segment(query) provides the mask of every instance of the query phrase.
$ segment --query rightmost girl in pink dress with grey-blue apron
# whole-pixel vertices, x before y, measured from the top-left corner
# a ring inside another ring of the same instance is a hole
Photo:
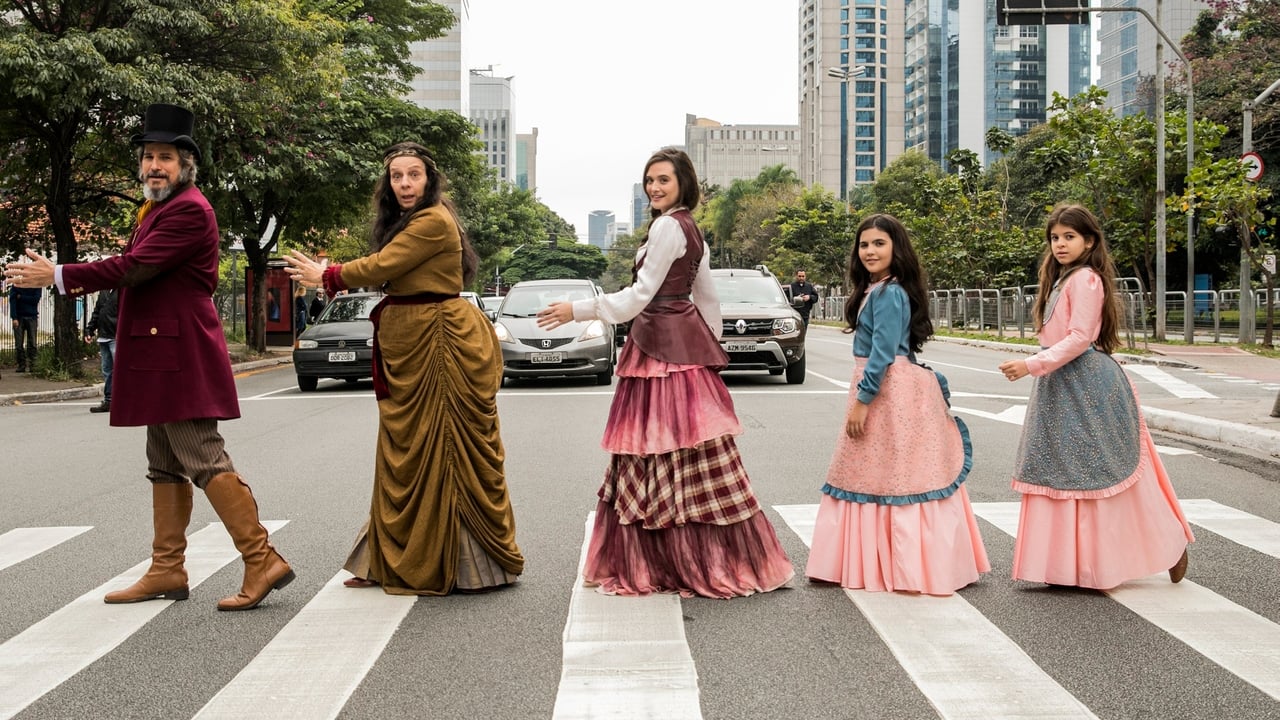
[[[1023,493],[1014,578],[1107,589],[1169,570],[1187,574],[1194,539],[1111,352],[1120,345],[1115,268],[1102,228],[1059,205],[1044,228],[1036,322],[1044,347],[1000,370],[1036,375],[1018,447]]]

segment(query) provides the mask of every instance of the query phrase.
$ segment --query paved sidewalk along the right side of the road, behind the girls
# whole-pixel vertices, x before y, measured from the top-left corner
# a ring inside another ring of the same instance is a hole
[[[1012,342],[941,336],[933,340],[1025,355],[1038,350],[1033,345]],[[1253,355],[1235,346],[1149,343],[1144,348],[1153,355],[1132,355],[1121,351],[1116,352],[1115,357],[1121,364],[1194,368],[1261,383],[1280,383],[1280,360]],[[1153,393],[1139,398],[1148,428],[1261,452],[1274,460],[1280,460],[1280,418],[1271,416],[1271,407],[1276,400],[1274,391],[1258,388],[1254,397],[1243,400],[1185,398],[1164,393],[1158,397],[1149,397],[1149,395]]]

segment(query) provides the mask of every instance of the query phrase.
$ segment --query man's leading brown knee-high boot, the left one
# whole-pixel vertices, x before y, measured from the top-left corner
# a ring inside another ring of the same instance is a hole
[[[191,523],[191,483],[151,483],[151,568],[138,582],[106,593],[110,603],[143,600],[187,600],[187,524]]]

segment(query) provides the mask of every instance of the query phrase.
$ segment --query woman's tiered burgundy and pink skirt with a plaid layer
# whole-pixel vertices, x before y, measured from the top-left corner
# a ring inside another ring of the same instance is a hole
[[[603,447],[582,577],[609,594],[728,598],[795,574],[751,492],[733,436],[741,425],[719,375],[648,357],[631,343]]]

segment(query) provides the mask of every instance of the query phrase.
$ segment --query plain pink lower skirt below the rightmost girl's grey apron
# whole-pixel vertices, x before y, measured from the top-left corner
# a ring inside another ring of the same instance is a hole
[[[1146,420],[1138,475],[1123,492],[1073,500],[1024,492],[1014,546],[1014,579],[1110,589],[1164,573],[1194,542]],[[1014,482],[1014,489],[1027,486]]]

